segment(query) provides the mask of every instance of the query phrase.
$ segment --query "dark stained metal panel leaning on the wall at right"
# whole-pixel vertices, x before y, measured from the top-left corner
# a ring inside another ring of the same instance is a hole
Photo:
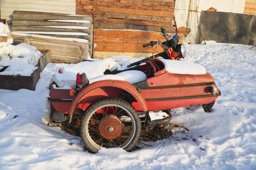
[[[256,15],[202,11],[200,30],[205,40],[256,45]]]

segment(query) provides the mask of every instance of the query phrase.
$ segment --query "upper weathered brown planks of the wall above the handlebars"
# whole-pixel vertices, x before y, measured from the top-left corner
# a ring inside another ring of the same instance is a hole
[[[93,0],[94,28],[174,32],[174,0]]]

